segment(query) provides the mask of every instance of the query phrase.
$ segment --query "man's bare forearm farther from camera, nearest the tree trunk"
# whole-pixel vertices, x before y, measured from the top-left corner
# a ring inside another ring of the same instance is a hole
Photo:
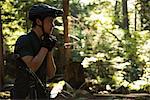
[[[51,79],[55,76],[56,73],[56,65],[54,62],[53,54],[52,52],[48,52],[47,55],[47,75]]]

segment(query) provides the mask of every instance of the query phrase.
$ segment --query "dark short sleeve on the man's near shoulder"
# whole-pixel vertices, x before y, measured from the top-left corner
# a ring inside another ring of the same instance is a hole
[[[32,43],[27,35],[18,38],[14,53],[19,54],[20,57],[33,56]]]

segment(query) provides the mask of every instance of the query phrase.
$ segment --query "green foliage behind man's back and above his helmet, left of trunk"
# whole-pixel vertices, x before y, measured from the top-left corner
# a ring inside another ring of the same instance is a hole
[[[13,52],[16,39],[26,34],[31,27],[31,22],[28,20],[28,10],[33,4],[39,2],[48,3],[50,5],[61,7],[61,0],[46,1],[46,0],[6,0],[0,1],[2,8],[3,35],[5,48],[8,52]],[[56,3],[57,2],[57,3]]]

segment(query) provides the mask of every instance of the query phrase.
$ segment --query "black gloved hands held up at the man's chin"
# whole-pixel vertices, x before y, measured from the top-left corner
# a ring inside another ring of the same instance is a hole
[[[57,42],[57,39],[55,36],[49,36],[48,34],[44,34],[41,42],[41,47],[47,48],[49,51],[53,49]]]

